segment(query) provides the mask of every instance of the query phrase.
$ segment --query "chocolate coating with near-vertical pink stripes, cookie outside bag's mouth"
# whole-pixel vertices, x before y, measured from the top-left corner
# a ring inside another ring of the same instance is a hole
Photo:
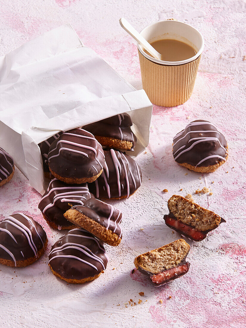
[[[114,149],[105,149],[105,170],[89,190],[97,198],[120,198],[132,195],[142,183],[140,167],[132,157]]]

